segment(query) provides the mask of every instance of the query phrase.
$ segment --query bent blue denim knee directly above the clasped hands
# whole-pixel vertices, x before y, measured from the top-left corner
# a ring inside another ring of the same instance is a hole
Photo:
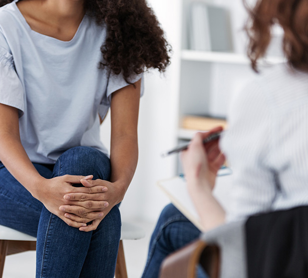
[[[56,162],[57,175],[93,175],[94,179],[109,180],[110,160],[101,151],[85,146],[71,148],[64,152]]]

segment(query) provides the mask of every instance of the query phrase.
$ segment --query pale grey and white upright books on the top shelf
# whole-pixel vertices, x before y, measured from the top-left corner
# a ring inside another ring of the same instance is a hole
[[[231,52],[232,39],[228,10],[193,1],[190,6],[190,49]]]

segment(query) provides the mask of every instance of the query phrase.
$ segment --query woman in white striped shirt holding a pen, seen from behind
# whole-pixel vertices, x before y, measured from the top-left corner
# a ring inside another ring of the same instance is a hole
[[[287,63],[263,69],[236,94],[228,130],[219,142],[202,143],[221,130],[218,127],[197,133],[182,153],[188,191],[204,231],[254,214],[308,205],[308,2],[258,0],[248,11],[247,54],[252,68],[257,71],[258,60],[266,55],[274,24],[284,32]],[[212,190],[225,156],[233,169],[231,194],[228,204],[220,204]],[[164,258],[199,235],[200,230],[173,205],[166,206],[152,234],[143,277],[158,277]],[[205,276],[201,272],[198,277]],[[226,276],[232,274],[222,275]]]

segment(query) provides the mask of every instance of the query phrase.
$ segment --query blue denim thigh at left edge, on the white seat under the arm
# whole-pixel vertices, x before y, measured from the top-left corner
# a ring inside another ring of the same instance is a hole
[[[39,173],[50,178],[52,171],[34,163]],[[43,204],[19,183],[0,162],[0,224],[37,236]]]

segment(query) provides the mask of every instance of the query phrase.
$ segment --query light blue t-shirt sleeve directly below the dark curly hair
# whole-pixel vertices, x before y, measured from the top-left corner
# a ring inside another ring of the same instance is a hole
[[[144,93],[144,76],[143,74],[140,75],[135,75],[134,77],[130,78],[131,83],[135,83],[138,80],[141,79],[141,91],[140,91],[140,96],[143,96]],[[128,86],[129,84],[124,80],[123,75],[114,75],[110,74],[109,79],[108,79],[108,84],[106,88],[106,93],[104,94],[104,97],[100,103],[99,106],[99,114],[101,119],[105,117],[105,115],[108,112],[108,109],[111,104],[111,96],[114,92]]]

